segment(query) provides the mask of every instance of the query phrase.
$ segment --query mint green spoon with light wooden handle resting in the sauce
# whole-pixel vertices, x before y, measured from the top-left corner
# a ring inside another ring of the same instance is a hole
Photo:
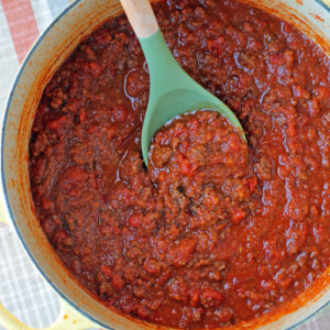
[[[235,114],[217,97],[190,78],[173,57],[147,0],[120,0],[139,37],[150,73],[150,97],[142,128],[142,155],[147,165],[150,144],[155,132],[168,120],[187,111],[219,111],[241,132]]]

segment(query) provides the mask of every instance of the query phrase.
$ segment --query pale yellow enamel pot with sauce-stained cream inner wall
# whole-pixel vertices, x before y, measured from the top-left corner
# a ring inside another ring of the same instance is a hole
[[[319,0],[240,1],[271,12],[296,25],[330,55],[330,10]],[[30,193],[28,174],[30,131],[43,88],[81,38],[107,18],[116,16],[121,12],[118,0],[74,2],[53,22],[30,51],[15,78],[6,108],[1,141],[1,198],[4,218],[1,218],[9,219],[13,224],[33,263],[64,298],[59,320],[48,329],[163,328],[106,308],[78,285],[46,240],[35,217]],[[287,329],[306,321],[330,305],[329,275],[328,268],[295,301],[276,312],[242,324],[242,328]],[[1,305],[0,317],[8,329],[31,329],[18,321]]]

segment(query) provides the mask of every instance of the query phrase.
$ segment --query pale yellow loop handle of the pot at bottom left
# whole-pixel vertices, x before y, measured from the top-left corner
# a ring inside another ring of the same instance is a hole
[[[59,316],[55,323],[47,328],[43,328],[43,330],[62,330],[62,329],[70,329],[70,330],[84,330],[89,328],[100,328],[98,324],[88,320],[85,316],[82,316],[79,311],[77,311],[74,307],[72,307],[64,299],[58,297],[59,299]],[[4,308],[3,305],[0,304],[0,323],[7,330],[36,330],[34,328],[28,327],[20,320],[18,320],[8,309]]]

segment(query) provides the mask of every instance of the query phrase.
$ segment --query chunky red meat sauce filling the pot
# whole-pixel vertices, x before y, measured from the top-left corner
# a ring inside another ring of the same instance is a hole
[[[329,58],[285,22],[235,1],[154,4],[186,72],[239,117],[141,128],[145,59],[127,19],[84,40],[46,86],[31,133],[42,229],[110,308],[180,328],[274,311],[330,264]]]

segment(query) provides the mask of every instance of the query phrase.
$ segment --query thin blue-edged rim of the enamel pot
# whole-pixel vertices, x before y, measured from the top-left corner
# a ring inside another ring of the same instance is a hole
[[[69,304],[69,306],[72,306],[73,308],[75,308],[78,312],[80,312],[84,317],[86,317],[87,319],[91,320],[92,322],[96,322],[98,326],[101,326],[106,329],[112,329],[109,326],[105,324],[103,322],[99,321],[98,319],[96,319],[92,315],[88,314],[87,311],[82,310],[81,308],[79,308],[70,298],[68,298],[64,293],[62,293],[62,290],[54,284],[53,280],[51,280],[47,275],[44,273],[44,271],[42,270],[42,267],[38,265],[38,263],[35,261],[35,258],[33,257],[33,255],[30,252],[29,246],[25,244],[25,241],[23,239],[23,235],[21,234],[21,231],[19,229],[19,227],[16,226],[16,222],[14,220],[14,216],[11,209],[11,205],[9,202],[9,198],[8,198],[8,194],[7,194],[7,186],[6,186],[6,175],[4,175],[4,162],[3,162],[3,151],[4,151],[4,131],[6,131],[6,127],[7,127],[7,119],[8,119],[8,113],[9,110],[11,108],[12,105],[12,99],[14,96],[14,92],[16,90],[16,86],[18,82],[25,69],[25,66],[29,64],[30,58],[32,57],[32,55],[34,54],[35,50],[38,47],[38,45],[42,43],[43,38],[47,35],[47,33],[54,28],[54,25],[61,21],[61,19],[63,16],[65,16],[74,7],[78,6],[81,1],[84,0],[76,0],[73,3],[70,3],[63,12],[61,12],[53,21],[52,23],[45,29],[45,31],[37,37],[37,40],[35,41],[35,43],[32,45],[32,47],[30,48],[29,53],[26,54],[26,56],[24,57],[22,64],[20,65],[19,72],[15,75],[15,78],[12,82],[12,86],[10,88],[10,92],[9,96],[7,98],[6,101],[6,107],[4,107],[4,112],[3,112],[3,118],[2,118],[2,130],[1,130],[1,145],[0,145],[0,158],[1,158],[1,163],[0,163],[0,167],[1,167],[1,174],[0,174],[0,182],[1,182],[1,193],[3,195],[3,200],[9,213],[9,218],[11,220],[11,223],[13,224],[15,232],[20,239],[21,244],[23,245],[25,252],[29,255],[30,261],[34,264],[34,266],[37,268],[38,273],[42,275],[42,277],[46,280],[46,283],[48,285],[51,285],[51,287],[53,289],[55,289],[56,294],[59,295],[61,298],[63,298],[66,302]],[[240,0],[238,0],[240,1]],[[328,11],[330,13],[330,8],[322,2],[322,0],[312,0],[315,2],[317,2],[319,6],[321,6],[326,11]],[[308,320],[310,320],[312,317],[317,316],[318,314],[322,312],[327,307],[330,306],[330,299],[324,302],[322,306],[320,306],[316,311],[314,311],[311,315],[307,316],[306,318],[304,318],[302,320],[294,323],[293,326],[286,328],[286,330],[292,330],[295,329],[296,327],[301,326],[302,323],[307,322]]]

